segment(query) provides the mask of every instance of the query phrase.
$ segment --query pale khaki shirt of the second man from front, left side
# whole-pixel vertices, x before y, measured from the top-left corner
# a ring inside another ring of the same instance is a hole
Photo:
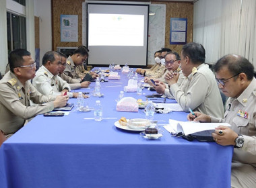
[[[59,76],[54,76],[43,65],[36,71],[33,85],[43,95],[61,95],[61,91],[63,91],[65,87],[70,91],[70,86],[66,81],[63,81]],[[67,95],[73,97],[73,93],[68,92]]]

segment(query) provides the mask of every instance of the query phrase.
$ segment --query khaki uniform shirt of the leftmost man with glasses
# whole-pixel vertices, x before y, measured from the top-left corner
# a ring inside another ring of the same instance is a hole
[[[38,105],[30,106],[30,100]],[[53,110],[54,96],[39,93],[30,81],[25,85],[9,71],[0,81],[0,130],[5,134],[17,132],[26,120]]]

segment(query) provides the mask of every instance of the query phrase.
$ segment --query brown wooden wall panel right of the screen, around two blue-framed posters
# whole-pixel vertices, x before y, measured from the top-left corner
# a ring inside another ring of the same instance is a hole
[[[170,18],[187,18],[187,43],[193,41],[193,3],[152,1],[152,4],[166,4],[165,47],[181,54],[183,45],[170,45]]]

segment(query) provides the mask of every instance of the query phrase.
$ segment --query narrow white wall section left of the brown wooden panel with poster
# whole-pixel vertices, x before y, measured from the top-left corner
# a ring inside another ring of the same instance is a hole
[[[39,17],[40,64],[42,64],[42,56],[52,50],[51,0],[34,0],[34,15]]]

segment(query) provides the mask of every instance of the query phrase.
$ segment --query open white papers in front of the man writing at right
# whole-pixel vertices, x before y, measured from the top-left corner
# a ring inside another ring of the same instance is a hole
[[[212,136],[212,132],[218,126],[231,127],[228,123],[179,122],[170,119],[169,124],[164,128],[170,133],[183,132],[185,135]]]

